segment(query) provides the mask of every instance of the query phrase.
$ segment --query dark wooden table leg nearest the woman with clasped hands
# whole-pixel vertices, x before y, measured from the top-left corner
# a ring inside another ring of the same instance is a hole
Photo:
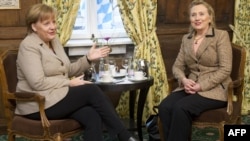
[[[143,108],[145,105],[145,101],[148,95],[149,87],[140,89],[139,100],[138,100],[138,107],[137,107],[137,131],[140,141],[143,140],[142,138],[142,114]]]

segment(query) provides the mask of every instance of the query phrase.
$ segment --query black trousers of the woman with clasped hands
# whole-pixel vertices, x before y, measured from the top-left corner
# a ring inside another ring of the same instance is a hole
[[[159,105],[165,141],[188,141],[192,119],[203,111],[225,107],[227,102],[213,100],[184,90],[168,95]]]

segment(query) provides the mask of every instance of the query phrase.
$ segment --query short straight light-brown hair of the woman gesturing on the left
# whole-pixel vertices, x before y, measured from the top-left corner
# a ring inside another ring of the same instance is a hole
[[[56,11],[54,10],[54,8],[41,3],[33,5],[26,14],[26,25],[28,33],[34,32],[32,29],[33,23],[55,17]]]

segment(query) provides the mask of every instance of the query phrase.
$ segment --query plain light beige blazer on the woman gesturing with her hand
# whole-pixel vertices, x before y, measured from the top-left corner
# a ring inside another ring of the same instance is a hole
[[[46,98],[45,108],[62,100],[69,89],[69,78],[81,75],[90,67],[86,57],[70,63],[58,38],[52,40],[55,53],[32,33],[19,46],[17,57],[17,91],[39,93]],[[34,102],[18,102],[16,114],[38,112]]]

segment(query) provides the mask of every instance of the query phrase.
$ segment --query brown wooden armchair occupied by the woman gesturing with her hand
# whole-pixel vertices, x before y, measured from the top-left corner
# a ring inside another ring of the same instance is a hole
[[[62,141],[83,131],[82,126],[73,119],[48,120],[44,111],[45,97],[36,93],[17,93],[16,59],[17,49],[6,49],[0,54],[0,86],[7,117],[8,140],[15,136],[32,140]],[[41,120],[31,120],[14,114],[16,101],[36,101]]]

